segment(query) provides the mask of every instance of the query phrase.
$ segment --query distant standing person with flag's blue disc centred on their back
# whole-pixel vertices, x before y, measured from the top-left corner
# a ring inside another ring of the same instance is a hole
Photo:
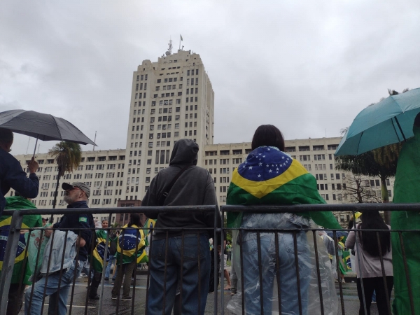
[[[123,297],[121,300],[132,300],[132,297],[130,296],[132,274],[137,264],[147,261],[147,255],[144,247],[145,240],[140,222],[140,215],[131,214],[130,221],[128,221],[128,224],[123,226],[123,230],[118,237],[116,253],[116,268],[118,268],[117,277],[111,291],[111,297],[113,300],[116,300],[120,294],[123,278]]]

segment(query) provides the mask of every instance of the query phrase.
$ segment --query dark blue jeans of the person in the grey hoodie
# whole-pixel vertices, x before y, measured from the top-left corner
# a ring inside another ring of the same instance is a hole
[[[197,248],[199,244],[200,253]],[[166,247],[168,250],[164,314],[170,315],[174,307],[176,288],[178,280],[181,279],[181,236],[169,237],[168,242],[166,239],[153,239],[149,255],[151,282],[148,288],[148,314],[162,314],[163,312]],[[209,293],[210,265],[209,236],[200,235],[200,243],[198,243],[196,234],[184,235],[181,314],[204,314]]]

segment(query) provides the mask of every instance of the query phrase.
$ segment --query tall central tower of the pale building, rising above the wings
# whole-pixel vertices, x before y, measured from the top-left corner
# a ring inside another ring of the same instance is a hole
[[[213,144],[214,91],[200,55],[178,50],[158,62],[144,60],[133,73],[127,130],[125,200],[141,200],[151,180],[169,165],[177,140]]]

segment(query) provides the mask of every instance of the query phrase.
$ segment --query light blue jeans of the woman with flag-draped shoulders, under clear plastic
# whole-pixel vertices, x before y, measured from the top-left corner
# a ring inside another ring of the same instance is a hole
[[[297,231],[296,237],[302,314],[307,315],[309,277],[311,272],[307,237],[304,231]],[[274,233],[263,233],[260,237],[260,263],[258,263],[258,244],[256,238],[244,241],[242,243],[242,250],[244,251],[244,298],[246,314],[262,314],[258,266],[260,266],[262,272],[262,303],[264,314],[272,314],[273,286],[274,281],[276,281]],[[279,233],[279,274],[277,276],[280,279],[281,314],[299,314],[293,233]]]

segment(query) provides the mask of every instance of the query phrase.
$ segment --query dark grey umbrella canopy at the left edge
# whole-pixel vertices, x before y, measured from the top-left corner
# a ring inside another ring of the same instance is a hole
[[[63,118],[16,109],[0,113],[0,127],[18,134],[48,140],[65,140],[76,144],[94,144],[83,132]]]

